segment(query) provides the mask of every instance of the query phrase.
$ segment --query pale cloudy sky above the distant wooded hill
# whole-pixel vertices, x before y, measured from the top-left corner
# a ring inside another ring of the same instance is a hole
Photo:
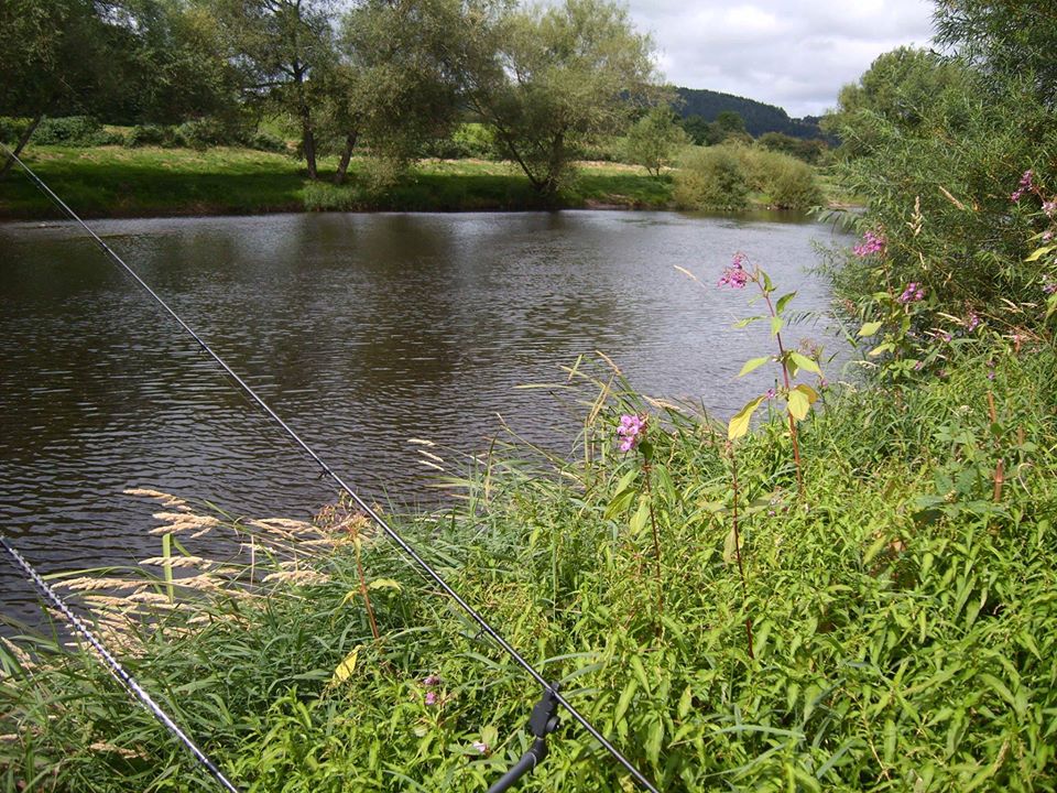
[[[817,116],[901,44],[927,46],[931,0],[630,0],[669,83]]]

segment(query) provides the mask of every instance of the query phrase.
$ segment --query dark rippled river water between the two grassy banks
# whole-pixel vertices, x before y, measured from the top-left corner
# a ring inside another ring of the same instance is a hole
[[[737,250],[794,307],[825,226],[665,213],[279,215],[95,224],[367,498],[437,498],[408,438],[480,450],[497,412],[565,449],[581,416],[546,391],[602,350],[641,391],[727,415],[766,330],[715,286]],[[675,265],[699,274],[702,289]],[[818,330],[793,333],[821,338]],[[159,552],[130,487],[238,515],[306,518],[334,488],[83,232],[0,225],[0,525],[44,571]],[[830,343],[831,345],[832,343]],[[762,374],[766,378],[766,374]],[[773,377],[773,376],[772,376]],[[760,385],[760,381],[755,383]],[[766,385],[763,385],[766,388]],[[29,613],[0,564],[0,607]]]

